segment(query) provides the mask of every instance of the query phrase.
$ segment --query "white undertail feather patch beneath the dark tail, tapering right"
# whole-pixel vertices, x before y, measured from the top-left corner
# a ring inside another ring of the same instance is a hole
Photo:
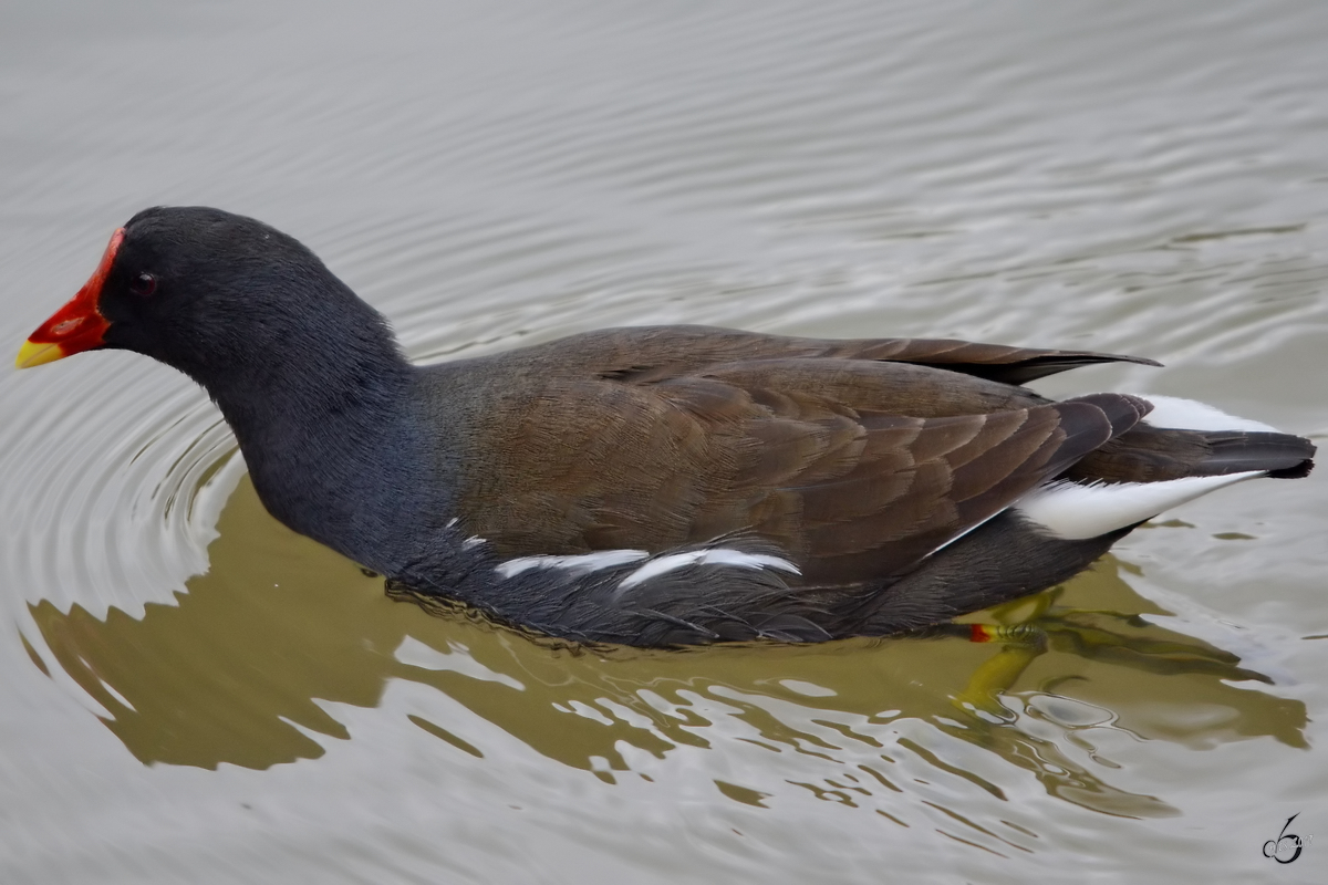
[[[1161,483],[1050,483],[1019,499],[1015,510],[1054,537],[1080,541],[1141,523],[1201,495],[1263,474],[1262,470],[1251,470]]]

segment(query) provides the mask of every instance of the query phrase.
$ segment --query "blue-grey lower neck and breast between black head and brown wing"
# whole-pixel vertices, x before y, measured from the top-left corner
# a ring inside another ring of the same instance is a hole
[[[421,421],[418,369],[377,314],[367,318],[297,332],[262,365],[208,373],[205,386],[268,512],[392,575],[420,559],[453,507]]]

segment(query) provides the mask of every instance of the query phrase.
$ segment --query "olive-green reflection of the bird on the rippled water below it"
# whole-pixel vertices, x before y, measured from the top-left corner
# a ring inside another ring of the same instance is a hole
[[[1158,609],[1112,559],[1066,588],[975,618],[1024,624],[1004,645],[971,642],[964,630],[822,646],[579,650],[393,602],[380,579],[272,521],[247,480],[219,529],[211,572],[193,579],[178,605],[149,605],[142,620],[113,609],[105,621],[80,608],[32,608],[54,658],[145,763],[266,768],[319,756],[309,734],[349,736],[319,702],[372,707],[393,679],[433,686],[580,768],[592,758],[627,768],[618,742],[663,756],[734,740],[712,727],[722,715],[742,720],[753,735],[744,740],[778,752],[833,751],[837,740],[880,747],[882,766],[867,767],[876,783],[854,785],[858,793],[898,791],[891,754],[911,752],[1003,796],[992,778],[954,772],[907,736],[894,748],[878,739],[883,724],[914,719],[1032,771],[1053,795],[1133,816],[1171,809],[1113,788],[1114,763],[1076,762],[1062,740],[1090,746],[1092,730],[1109,727],[1195,748],[1243,736],[1304,746],[1301,703],[1260,691],[1266,678],[1236,655],[1138,618]],[[410,720],[485,755],[446,722]],[[853,801],[834,776],[803,785]],[[761,787],[721,784],[742,801],[758,801]]]

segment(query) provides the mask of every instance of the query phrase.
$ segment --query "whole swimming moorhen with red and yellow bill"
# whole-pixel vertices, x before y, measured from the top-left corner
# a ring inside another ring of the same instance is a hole
[[[155,207],[17,365],[185,373],[278,520],[425,597],[583,642],[886,636],[1035,593],[1313,444],[1185,399],[1025,382],[1150,360],[705,326],[418,366],[313,252]]]

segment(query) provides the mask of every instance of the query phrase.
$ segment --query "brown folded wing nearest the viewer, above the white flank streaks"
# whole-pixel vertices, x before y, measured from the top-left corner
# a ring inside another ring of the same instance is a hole
[[[526,383],[469,471],[469,532],[505,556],[754,532],[809,585],[906,571],[1114,433],[1090,402],[890,362]]]

